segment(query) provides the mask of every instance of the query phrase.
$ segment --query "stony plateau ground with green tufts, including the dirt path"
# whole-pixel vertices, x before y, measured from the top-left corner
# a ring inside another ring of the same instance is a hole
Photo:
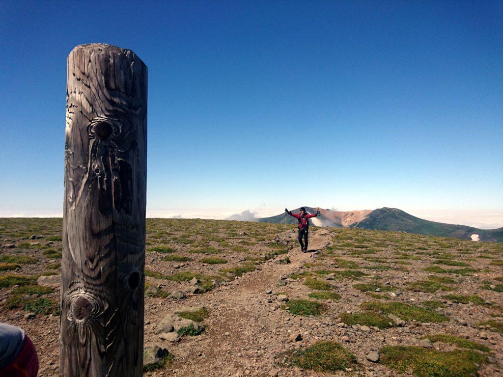
[[[0,321],[41,377],[58,374],[60,227],[0,219]],[[312,227],[301,253],[293,227],[149,219],[145,375],[501,375],[502,246]]]

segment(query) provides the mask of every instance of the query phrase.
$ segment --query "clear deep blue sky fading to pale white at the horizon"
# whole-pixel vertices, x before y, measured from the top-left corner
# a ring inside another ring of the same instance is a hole
[[[503,226],[502,19],[484,1],[2,2],[0,216],[61,215],[66,57],[104,42],[148,66],[149,216]]]

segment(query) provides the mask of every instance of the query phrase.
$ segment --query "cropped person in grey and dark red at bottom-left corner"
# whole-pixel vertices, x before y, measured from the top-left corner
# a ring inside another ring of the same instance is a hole
[[[0,323],[0,377],[36,377],[35,346],[19,327]]]

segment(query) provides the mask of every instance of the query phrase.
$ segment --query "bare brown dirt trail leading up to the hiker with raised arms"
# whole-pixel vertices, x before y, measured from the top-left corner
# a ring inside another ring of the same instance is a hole
[[[309,240],[311,252],[302,253],[296,246],[276,258],[288,256],[291,263],[271,260],[262,264],[260,270],[244,274],[228,285],[189,298],[186,305],[208,309],[209,318],[204,321],[207,330],[169,347],[176,355],[172,370],[159,371],[158,375],[275,375],[278,367],[274,357],[288,348],[290,316],[277,308],[278,302],[269,299],[267,292],[283,292],[285,287],[277,285],[281,277],[296,271],[315,250],[323,249],[329,237],[313,232]]]

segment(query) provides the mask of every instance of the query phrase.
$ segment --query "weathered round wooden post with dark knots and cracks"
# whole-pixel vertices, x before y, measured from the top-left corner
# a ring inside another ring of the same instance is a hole
[[[67,69],[60,373],[139,377],[147,67],[97,43],[75,47]]]

